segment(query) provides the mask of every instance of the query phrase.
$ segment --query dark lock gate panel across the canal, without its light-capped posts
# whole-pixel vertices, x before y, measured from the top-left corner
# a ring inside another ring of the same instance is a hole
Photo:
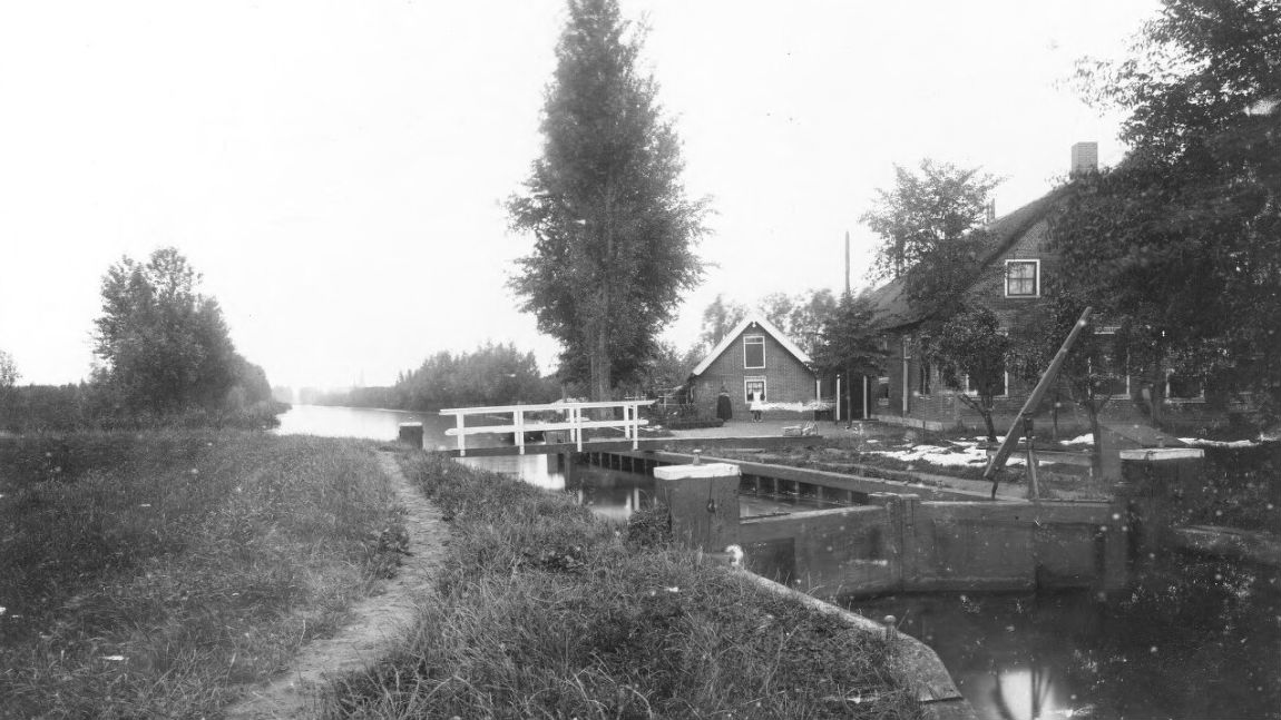
[[[1125,517],[1111,504],[870,501],[743,520],[748,568],[819,597],[1125,584]]]

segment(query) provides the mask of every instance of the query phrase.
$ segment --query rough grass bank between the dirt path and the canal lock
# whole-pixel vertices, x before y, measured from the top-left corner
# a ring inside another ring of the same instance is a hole
[[[884,638],[567,496],[421,454],[452,523],[416,630],[330,717],[917,717]]]

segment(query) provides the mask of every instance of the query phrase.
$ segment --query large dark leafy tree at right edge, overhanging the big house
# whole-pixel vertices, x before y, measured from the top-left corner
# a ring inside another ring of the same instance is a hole
[[[1073,292],[1131,329],[1161,419],[1173,368],[1281,398],[1281,3],[1166,0],[1086,93],[1130,113],[1130,156],[1052,216]]]

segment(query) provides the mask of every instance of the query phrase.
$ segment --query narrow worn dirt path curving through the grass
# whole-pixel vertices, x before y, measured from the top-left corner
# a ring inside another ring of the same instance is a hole
[[[314,716],[316,691],[328,679],[369,666],[386,655],[414,622],[415,607],[434,593],[433,578],[445,556],[448,524],[441,519],[439,510],[410,486],[392,453],[379,453],[378,462],[406,509],[410,554],[400,574],[388,581],[382,595],[357,602],[351,609],[354,622],[337,636],[307,643],[287,673],[255,687],[249,697],[228,707],[228,719]]]

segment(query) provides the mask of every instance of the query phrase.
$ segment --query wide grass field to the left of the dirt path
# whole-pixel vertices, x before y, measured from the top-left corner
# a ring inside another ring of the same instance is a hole
[[[0,439],[0,716],[215,716],[393,568],[398,522],[369,445]]]

